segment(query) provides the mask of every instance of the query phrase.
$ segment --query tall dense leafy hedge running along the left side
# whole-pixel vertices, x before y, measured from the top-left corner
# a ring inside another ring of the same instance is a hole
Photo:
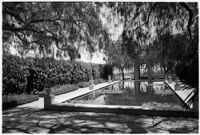
[[[103,65],[52,58],[3,55],[3,95],[32,93],[45,87],[88,82],[104,75]]]

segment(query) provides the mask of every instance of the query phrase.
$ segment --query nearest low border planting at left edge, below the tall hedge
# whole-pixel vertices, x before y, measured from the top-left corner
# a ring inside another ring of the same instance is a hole
[[[25,103],[33,102],[39,99],[38,95],[29,94],[13,94],[3,95],[3,110],[22,105]]]

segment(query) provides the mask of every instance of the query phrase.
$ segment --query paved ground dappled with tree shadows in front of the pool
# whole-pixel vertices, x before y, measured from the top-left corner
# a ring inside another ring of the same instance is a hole
[[[15,108],[3,112],[3,133],[175,133],[179,130],[169,122],[181,121],[185,119]],[[185,123],[180,133],[198,132],[197,119],[187,118]]]

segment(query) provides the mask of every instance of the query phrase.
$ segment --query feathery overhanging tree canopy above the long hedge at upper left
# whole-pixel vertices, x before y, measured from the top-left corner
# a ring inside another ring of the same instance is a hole
[[[43,53],[56,44],[74,58],[77,42],[94,50],[103,31],[98,13],[90,2],[3,2],[3,42],[16,37],[23,50],[38,46]]]

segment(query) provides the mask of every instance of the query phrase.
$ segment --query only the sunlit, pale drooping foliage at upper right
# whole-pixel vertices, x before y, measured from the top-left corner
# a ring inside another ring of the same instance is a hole
[[[148,47],[159,38],[159,35],[168,31],[174,34],[186,33],[190,40],[194,37],[191,29],[198,17],[197,3],[109,2],[104,4],[120,16],[124,24],[122,39],[124,43],[127,42],[127,50],[137,44],[140,47]],[[132,55],[131,52],[129,54]]]

